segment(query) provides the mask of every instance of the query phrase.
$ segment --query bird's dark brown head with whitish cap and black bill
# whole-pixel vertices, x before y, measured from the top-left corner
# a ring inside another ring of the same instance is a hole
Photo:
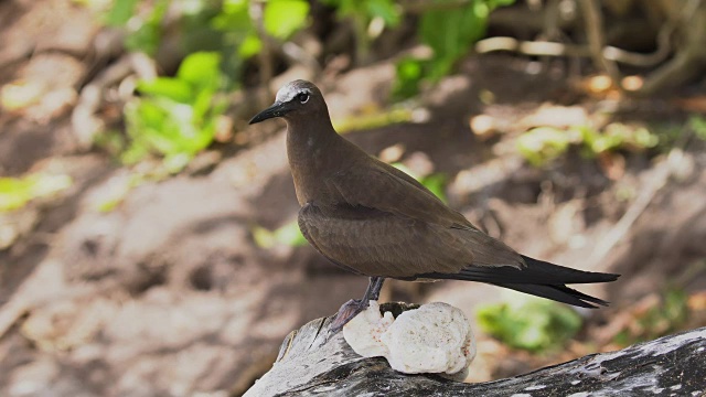
[[[250,124],[274,117],[284,117],[286,120],[310,117],[322,110],[328,115],[327,104],[319,88],[310,82],[298,79],[281,87],[277,92],[275,104],[255,115]]]

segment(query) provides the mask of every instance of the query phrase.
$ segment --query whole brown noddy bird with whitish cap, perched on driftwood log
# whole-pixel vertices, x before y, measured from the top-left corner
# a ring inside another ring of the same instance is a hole
[[[334,330],[377,300],[386,278],[480,281],[581,308],[608,304],[566,285],[619,275],[533,259],[486,235],[414,178],[341,137],[312,83],[288,83],[250,124],[274,117],[287,121],[301,233],[333,264],[370,277],[363,299],[341,307]]]

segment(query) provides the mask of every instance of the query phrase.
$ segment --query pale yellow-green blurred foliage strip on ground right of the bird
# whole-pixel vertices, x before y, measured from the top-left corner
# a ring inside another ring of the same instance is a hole
[[[544,165],[564,154],[570,146],[593,158],[616,150],[645,150],[660,143],[660,136],[644,127],[612,122],[602,130],[587,126],[569,129],[537,127],[517,139],[517,150],[535,167]]]

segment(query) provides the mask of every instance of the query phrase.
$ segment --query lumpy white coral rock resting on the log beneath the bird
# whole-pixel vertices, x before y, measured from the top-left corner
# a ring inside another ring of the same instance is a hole
[[[440,373],[463,378],[475,357],[475,341],[459,309],[440,302],[408,310],[393,319],[371,301],[343,328],[343,336],[364,357],[384,356],[405,374]]]

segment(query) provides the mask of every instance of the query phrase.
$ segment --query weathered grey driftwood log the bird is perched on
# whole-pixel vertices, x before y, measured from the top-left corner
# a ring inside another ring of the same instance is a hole
[[[404,303],[381,305],[395,316],[406,308]],[[430,374],[402,374],[384,358],[361,357],[342,333],[325,341],[330,322],[331,318],[319,319],[292,331],[272,368],[245,396],[706,395],[706,328],[512,378],[464,384]]]

